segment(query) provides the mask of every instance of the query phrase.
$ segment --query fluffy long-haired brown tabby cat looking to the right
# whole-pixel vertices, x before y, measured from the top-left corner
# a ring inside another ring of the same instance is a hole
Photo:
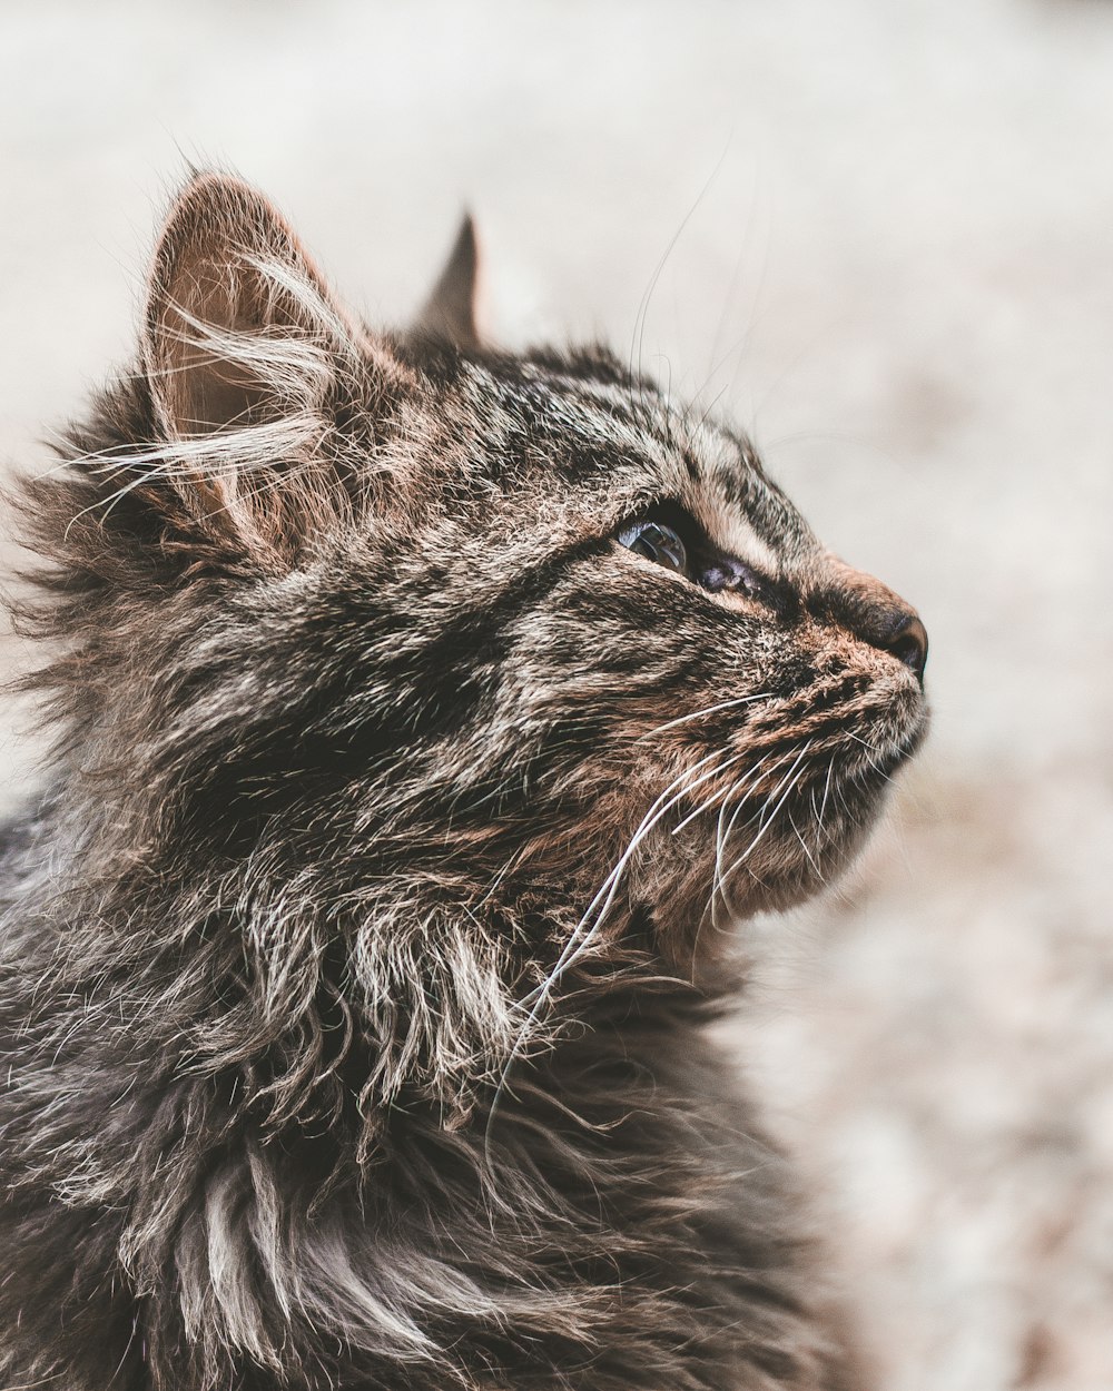
[[[487,345],[476,264],[373,332],[198,174],[21,484],[6,1391],[853,1380],[708,1024],[920,743],[924,626],[744,437]]]

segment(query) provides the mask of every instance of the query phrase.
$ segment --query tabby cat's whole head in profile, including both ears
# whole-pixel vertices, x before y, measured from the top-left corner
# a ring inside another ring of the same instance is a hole
[[[604,352],[486,348],[473,295],[465,228],[369,331],[264,199],[185,189],[139,369],[32,487],[67,776],[109,857],[690,963],[846,862],[924,629],[743,437]]]

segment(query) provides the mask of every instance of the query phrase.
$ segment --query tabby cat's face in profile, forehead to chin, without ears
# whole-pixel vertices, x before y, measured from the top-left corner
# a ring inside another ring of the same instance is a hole
[[[459,359],[438,389],[394,477],[458,634],[413,668],[456,705],[456,826],[474,807],[604,940],[614,887],[678,958],[828,882],[924,730],[915,613],[607,359]]]

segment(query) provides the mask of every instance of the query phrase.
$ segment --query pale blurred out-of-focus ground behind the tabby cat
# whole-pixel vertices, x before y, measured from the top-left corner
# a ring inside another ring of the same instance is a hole
[[[373,320],[469,203],[495,335],[716,401],[920,606],[932,739],[849,883],[750,929],[732,1042],[881,1385],[1107,1391],[1113,4],[4,7],[6,459],[127,356],[188,160]]]

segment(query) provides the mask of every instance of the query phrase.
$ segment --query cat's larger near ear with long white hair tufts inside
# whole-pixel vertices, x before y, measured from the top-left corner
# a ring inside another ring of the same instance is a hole
[[[296,552],[342,492],[321,452],[338,392],[377,351],[262,193],[202,174],[178,196],[142,353],[161,442],[141,495],[238,554]]]

